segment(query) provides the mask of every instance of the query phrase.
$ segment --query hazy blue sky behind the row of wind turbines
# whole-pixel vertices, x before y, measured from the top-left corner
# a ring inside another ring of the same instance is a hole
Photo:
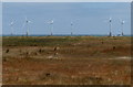
[[[14,20],[13,32],[24,34],[24,17],[30,23],[30,34],[50,34],[45,21],[54,20],[53,34],[70,34],[73,21],[74,34],[108,34],[109,18],[112,31],[121,32],[121,20],[125,20],[124,33],[131,33],[130,2],[3,2],[3,34],[10,34],[10,22]]]

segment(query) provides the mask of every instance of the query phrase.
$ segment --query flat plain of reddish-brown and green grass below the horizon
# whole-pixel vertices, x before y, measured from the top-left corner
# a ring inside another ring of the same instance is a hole
[[[4,85],[130,85],[130,36],[3,36]]]

